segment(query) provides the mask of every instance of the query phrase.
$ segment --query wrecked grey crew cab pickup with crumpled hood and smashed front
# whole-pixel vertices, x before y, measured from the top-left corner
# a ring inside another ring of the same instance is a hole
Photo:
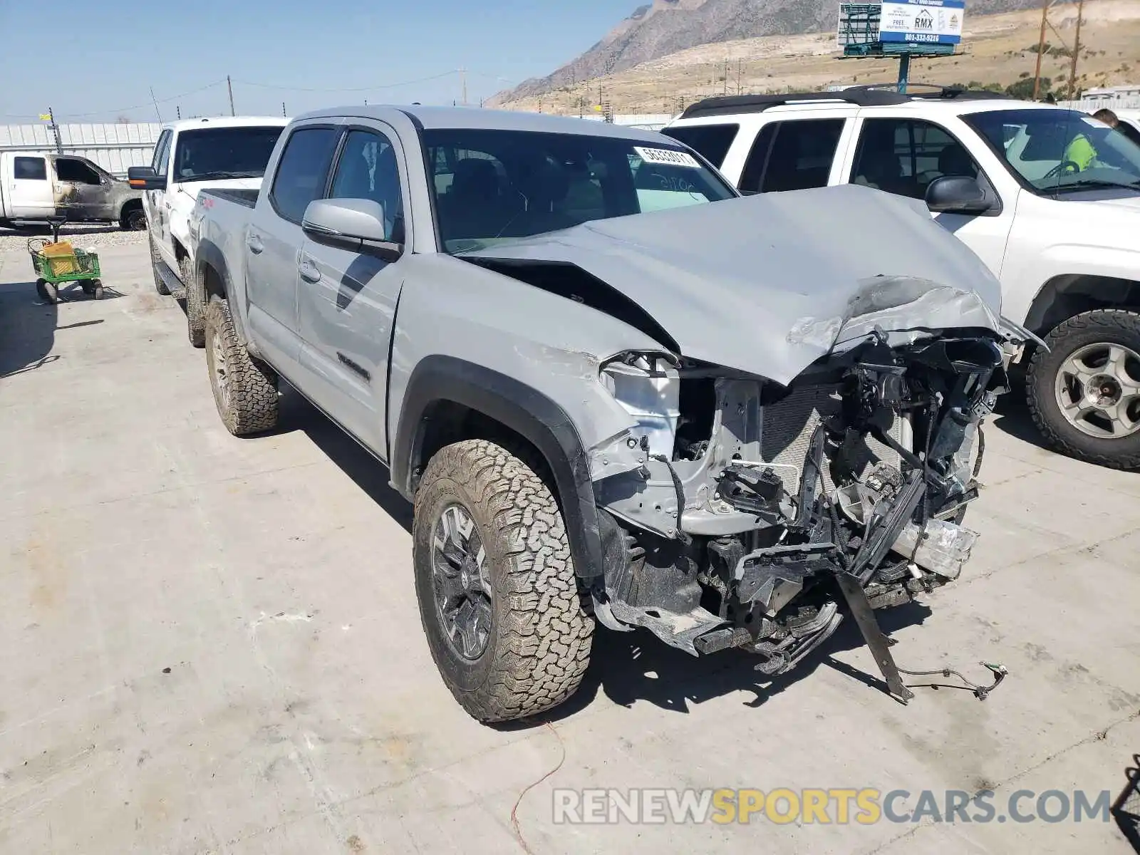
[[[962,571],[1026,335],[921,206],[741,198],[604,123],[355,107],[294,120],[192,231],[222,421],[274,427],[285,377],[390,467],[475,718],[569,698],[595,621],[774,676],[849,614],[907,695],[874,610]]]

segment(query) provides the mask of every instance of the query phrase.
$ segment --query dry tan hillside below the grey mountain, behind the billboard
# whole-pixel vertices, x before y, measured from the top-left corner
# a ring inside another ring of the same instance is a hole
[[[1076,7],[1057,7],[1050,19],[1072,44]],[[1041,13],[1036,9],[972,17],[967,14],[961,46],[964,52],[917,59],[911,78],[943,84],[1009,85],[1025,80],[1033,74],[1040,26]],[[1070,59],[1052,33],[1047,39],[1053,47],[1042,59],[1042,75],[1050,78],[1053,90],[1064,90]],[[1078,87],[1140,82],[1140,0],[1086,2],[1081,46]],[[500,106],[578,114],[605,103],[616,113],[675,113],[698,98],[724,92],[887,82],[895,79],[897,68],[897,60],[839,58],[834,32],[771,35],[701,44],[587,83],[562,85],[553,92],[515,98]]]

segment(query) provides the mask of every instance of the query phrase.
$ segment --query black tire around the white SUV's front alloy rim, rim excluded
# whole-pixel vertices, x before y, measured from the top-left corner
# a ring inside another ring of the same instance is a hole
[[[1140,469],[1140,433],[1121,439],[1090,437],[1069,424],[1057,404],[1054,384],[1060,367],[1080,348],[1100,342],[1140,352],[1140,314],[1097,309],[1069,318],[1049,333],[1049,351],[1036,349],[1026,376],[1029,412],[1053,450],[1109,469]]]

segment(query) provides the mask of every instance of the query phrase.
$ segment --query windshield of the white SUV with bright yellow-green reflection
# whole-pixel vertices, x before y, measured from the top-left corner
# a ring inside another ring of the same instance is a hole
[[[962,116],[1034,193],[1140,189],[1140,146],[1074,109],[999,109]]]

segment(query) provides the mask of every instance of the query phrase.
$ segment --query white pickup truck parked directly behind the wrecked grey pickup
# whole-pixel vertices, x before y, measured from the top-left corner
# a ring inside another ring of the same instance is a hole
[[[190,344],[203,345],[202,304],[186,288],[194,269],[189,217],[204,189],[261,186],[269,155],[288,119],[236,116],[190,119],[163,129],[149,166],[128,171],[131,187],[144,190],[154,286],[186,300]]]

